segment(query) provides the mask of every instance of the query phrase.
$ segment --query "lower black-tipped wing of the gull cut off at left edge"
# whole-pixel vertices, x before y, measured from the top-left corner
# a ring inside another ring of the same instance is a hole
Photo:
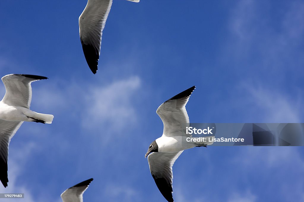
[[[7,161],[9,158],[9,142],[21,126],[21,122],[4,121],[0,119],[0,180],[4,187],[7,187]]]

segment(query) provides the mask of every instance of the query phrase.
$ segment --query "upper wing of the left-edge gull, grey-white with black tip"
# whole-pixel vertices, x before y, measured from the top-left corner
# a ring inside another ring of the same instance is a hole
[[[2,102],[12,106],[29,108],[32,100],[31,83],[41,79],[47,79],[47,77],[24,74],[5,75],[1,78],[6,89]]]

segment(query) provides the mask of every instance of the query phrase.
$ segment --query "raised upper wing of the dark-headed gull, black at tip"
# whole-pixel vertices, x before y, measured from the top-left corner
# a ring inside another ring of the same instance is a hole
[[[186,111],[186,104],[195,86],[175,95],[165,101],[156,110],[164,124],[163,136],[186,136],[186,126],[189,124],[189,117]],[[191,135],[187,135],[191,136]]]

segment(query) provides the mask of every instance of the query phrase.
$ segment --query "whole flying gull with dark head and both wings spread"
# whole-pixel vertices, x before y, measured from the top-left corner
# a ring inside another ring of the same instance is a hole
[[[172,197],[172,166],[175,160],[185,149],[193,147],[206,147],[213,142],[188,142],[186,139],[193,137],[186,134],[186,126],[189,126],[189,117],[186,111],[186,104],[195,86],[175,95],[165,101],[156,110],[164,124],[163,135],[153,141],[146,153],[152,177],[161,194],[169,202],[174,201]],[[210,136],[214,137],[214,136]]]

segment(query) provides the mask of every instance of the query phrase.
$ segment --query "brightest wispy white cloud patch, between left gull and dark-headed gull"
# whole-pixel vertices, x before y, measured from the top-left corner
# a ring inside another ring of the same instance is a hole
[[[115,81],[106,86],[91,88],[85,96],[83,126],[107,126],[120,130],[136,121],[136,110],[132,101],[140,88],[137,76]]]

